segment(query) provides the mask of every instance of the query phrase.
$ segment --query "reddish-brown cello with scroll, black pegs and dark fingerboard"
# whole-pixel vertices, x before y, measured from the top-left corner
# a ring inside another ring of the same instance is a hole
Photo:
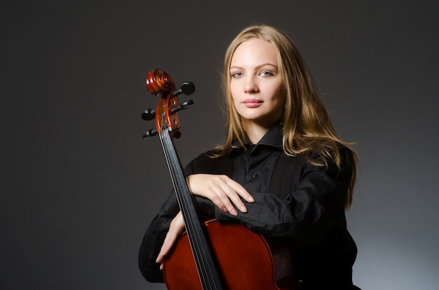
[[[143,138],[156,134],[160,137],[186,229],[163,263],[166,287],[170,290],[294,289],[297,283],[292,279],[285,247],[278,247],[274,252],[262,235],[244,226],[198,219],[174,144],[174,139],[181,136],[177,112],[194,104],[192,100],[179,104],[178,95],[191,95],[194,84],[183,83],[177,90],[173,79],[161,69],[149,71],[146,83],[147,90],[151,95],[159,95],[159,100],[155,110],[142,113],[144,120],[154,119],[156,123]]]

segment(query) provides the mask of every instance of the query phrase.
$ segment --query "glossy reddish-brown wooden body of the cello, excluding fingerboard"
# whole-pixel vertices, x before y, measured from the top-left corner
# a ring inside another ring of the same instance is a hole
[[[224,289],[230,290],[292,290],[295,288],[289,257],[275,263],[268,242],[257,233],[238,224],[220,225],[212,220],[205,223],[205,233],[210,241]],[[277,249],[273,249],[277,250]],[[285,253],[282,253],[285,254]],[[289,254],[289,253],[286,253]],[[276,271],[277,275],[276,275]],[[287,285],[276,282],[284,273]],[[173,251],[163,265],[163,277],[168,289],[202,290],[194,257],[186,233],[180,236]]]

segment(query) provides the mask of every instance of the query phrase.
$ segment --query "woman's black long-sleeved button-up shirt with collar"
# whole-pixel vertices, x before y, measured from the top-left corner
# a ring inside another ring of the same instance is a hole
[[[341,148],[340,167],[334,163],[313,166],[303,155],[283,153],[280,125],[271,127],[258,144],[245,147],[234,148],[222,158],[202,154],[185,172],[227,174],[255,198],[255,202],[244,201],[248,212],[224,213],[197,196],[198,210],[205,219],[241,223],[266,237],[281,238],[290,247],[303,289],[320,289],[323,284],[321,289],[351,289],[357,249],[344,215],[352,175],[349,149]],[[151,282],[163,281],[155,258],[178,211],[172,194],[145,233],[139,261],[142,274]]]

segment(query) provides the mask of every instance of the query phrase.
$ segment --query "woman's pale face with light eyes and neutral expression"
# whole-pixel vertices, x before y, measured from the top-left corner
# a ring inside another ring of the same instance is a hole
[[[249,39],[235,50],[230,64],[230,90],[243,125],[271,127],[283,113],[285,97],[275,46]]]

